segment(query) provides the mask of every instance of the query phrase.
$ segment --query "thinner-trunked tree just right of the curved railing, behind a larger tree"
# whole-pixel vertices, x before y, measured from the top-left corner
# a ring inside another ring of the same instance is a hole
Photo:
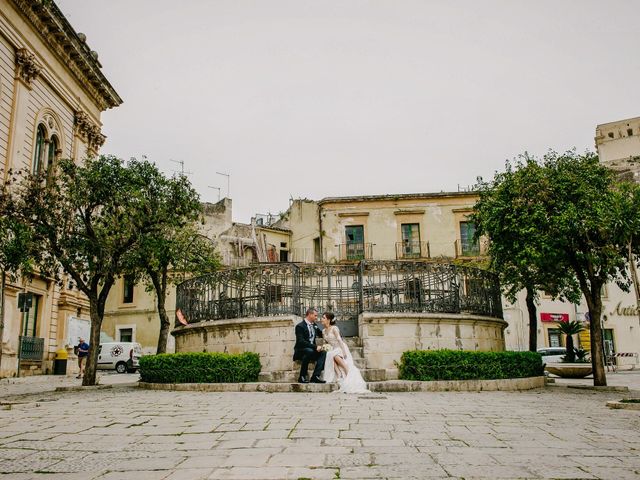
[[[518,292],[526,292],[529,315],[529,350],[538,346],[538,292],[577,301],[575,283],[553,272],[557,252],[549,248],[548,212],[533,186],[546,182],[545,169],[528,154],[508,162],[506,170],[490,182],[480,182],[480,198],[471,215],[476,224],[476,240],[490,239],[490,268],[498,273],[505,297],[514,302]]]

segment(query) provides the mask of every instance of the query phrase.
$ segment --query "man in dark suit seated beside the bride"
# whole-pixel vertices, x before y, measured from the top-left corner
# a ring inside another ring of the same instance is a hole
[[[327,352],[316,346],[316,338],[322,338],[322,331],[316,325],[318,312],[314,308],[307,309],[304,320],[296,325],[296,344],[293,347],[293,359],[300,360],[300,377],[298,383],[309,383],[309,362],[315,361],[311,383],[325,383],[320,380],[324,370],[324,359]]]

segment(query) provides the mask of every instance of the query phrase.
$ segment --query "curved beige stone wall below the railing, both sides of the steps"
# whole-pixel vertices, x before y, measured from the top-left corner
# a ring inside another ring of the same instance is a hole
[[[261,378],[294,381],[294,327],[301,320],[295,315],[215,320],[172,333],[177,352],[256,352]],[[398,378],[396,362],[407,350],[503,351],[506,326],[501,319],[465,314],[363,313],[359,318],[366,369],[387,380]]]

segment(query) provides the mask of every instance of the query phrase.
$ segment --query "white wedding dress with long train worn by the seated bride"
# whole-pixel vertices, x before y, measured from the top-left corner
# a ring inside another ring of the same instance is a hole
[[[368,393],[367,384],[362,378],[360,370],[354,365],[349,347],[342,340],[338,327],[332,325],[329,328],[325,328],[322,332],[322,338],[332,347],[327,352],[327,358],[324,361],[323,379],[327,383],[337,381],[338,385],[340,385],[340,390],[338,391],[342,393]],[[340,355],[346,360],[349,367],[349,373],[346,378],[342,369],[333,359],[336,355]]]

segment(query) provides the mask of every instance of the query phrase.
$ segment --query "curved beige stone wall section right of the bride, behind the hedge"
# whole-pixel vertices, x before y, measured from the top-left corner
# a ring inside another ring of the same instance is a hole
[[[407,350],[505,349],[507,322],[498,318],[444,313],[362,313],[358,320],[367,369],[398,378],[400,357]]]

